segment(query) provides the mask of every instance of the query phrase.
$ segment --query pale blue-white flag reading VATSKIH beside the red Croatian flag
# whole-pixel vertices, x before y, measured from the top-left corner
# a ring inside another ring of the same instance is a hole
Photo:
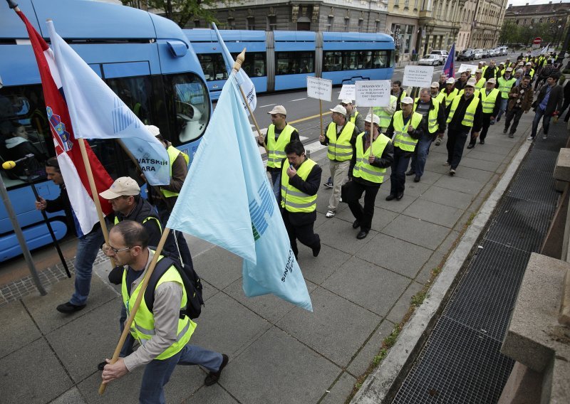
[[[168,152],[48,21],[51,46],[76,137],[120,139],[150,185],[170,184]]]

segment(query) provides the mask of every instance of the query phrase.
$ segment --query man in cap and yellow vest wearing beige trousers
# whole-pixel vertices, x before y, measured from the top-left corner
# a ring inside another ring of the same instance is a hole
[[[348,168],[352,158],[352,145],[358,136],[358,129],[346,120],[346,108],[336,105],[330,110],[333,122],[325,128],[325,133],[318,137],[321,144],[327,146],[328,164],[333,179],[333,193],[328,200],[327,218],[336,215],[336,208],[341,199],[341,187],[346,182]]]

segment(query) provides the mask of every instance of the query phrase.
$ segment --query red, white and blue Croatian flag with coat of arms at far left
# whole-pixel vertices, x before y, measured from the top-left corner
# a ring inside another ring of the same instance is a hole
[[[50,124],[53,143],[55,144],[59,168],[63,181],[66,184],[69,201],[76,223],[78,223],[78,235],[87,234],[93,229],[93,225],[98,222],[97,208],[93,202],[91,188],[86,172],[86,167],[81,156],[81,149],[78,142],[83,139],[76,139],[71,119],[69,117],[68,106],[62,95],[61,74],[56,67],[53,53],[46,41],[28,21],[21,11],[16,11],[20,16],[30,37],[33,53],[36,56],[38,70],[43,88],[43,98],[46,102],[48,121]],[[93,154],[89,144],[85,142],[87,156],[90,161],[91,170],[95,179],[97,192],[105,191],[113,179],[109,176],[103,165]],[[113,211],[109,201],[99,198],[103,214],[107,215]]]

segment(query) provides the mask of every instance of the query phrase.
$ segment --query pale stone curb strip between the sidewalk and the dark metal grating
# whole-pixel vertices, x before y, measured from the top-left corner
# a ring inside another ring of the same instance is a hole
[[[522,135],[523,139],[526,139],[527,132],[528,130]],[[388,397],[390,390],[398,381],[400,374],[404,376],[408,366],[413,363],[414,353],[422,348],[425,339],[427,339],[426,331],[430,331],[432,326],[435,326],[440,309],[444,307],[444,299],[450,291],[450,287],[454,285],[457,273],[487,225],[514,174],[517,173],[519,165],[524,156],[527,155],[531,144],[532,142],[527,141],[521,144],[519,151],[513,157],[499,183],[477,212],[477,216],[462,236],[460,243],[447,258],[423,304],[415,309],[410,320],[400,331],[396,344],[388,351],[388,355],[380,363],[380,366],[366,378],[358,393],[351,400],[351,404],[378,404],[384,403],[387,398],[391,399]]]

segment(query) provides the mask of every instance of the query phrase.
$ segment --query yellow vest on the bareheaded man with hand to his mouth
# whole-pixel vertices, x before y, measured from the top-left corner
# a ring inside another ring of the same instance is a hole
[[[311,159],[306,159],[301,166],[299,166],[297,175],[300,176],[303,181],[306,181],[314,166],[316,166],[316,162]],[[287,175],[288,168],[289,166],[284,165],[281,169],[281,208],[285,208],[286,211],[292,213],[309,213],[315,211],[316,194],[308,195],[289,184],[289,176]]]

